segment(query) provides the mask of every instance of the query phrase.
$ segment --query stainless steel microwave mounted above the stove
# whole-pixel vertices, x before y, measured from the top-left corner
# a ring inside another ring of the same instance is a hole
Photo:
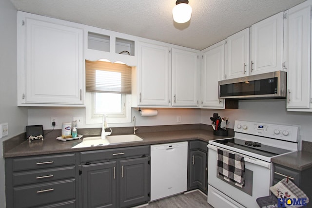
[[[276,71],[219,81],[219,98],[286,98],[286,72]]]

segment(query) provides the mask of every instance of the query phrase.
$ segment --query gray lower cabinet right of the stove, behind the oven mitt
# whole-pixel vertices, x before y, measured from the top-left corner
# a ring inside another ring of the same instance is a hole
[[[310,202],[305,208],[312,208],[312,168],[300,171],[274,164],[273,185],[287,176],[309,197]]]

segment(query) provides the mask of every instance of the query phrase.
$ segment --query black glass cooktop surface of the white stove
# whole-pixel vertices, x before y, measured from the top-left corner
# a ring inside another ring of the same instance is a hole
[[[245,141],[245,140],[236,139],[236,138],[214,140],[214,142],[223,144],[229,147],[234,147],[240,150],[253,152],[255,154],[259,154],[259,155],[263,155],[267,157],[272,157],[272,156],[276,156],[279,154],[291,152],[290,150],[263,145],[259,142]]]

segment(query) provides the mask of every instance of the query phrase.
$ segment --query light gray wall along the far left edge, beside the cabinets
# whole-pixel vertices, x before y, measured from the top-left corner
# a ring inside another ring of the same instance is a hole
[[[9,135],[0,140],[0,208],[5,207],[2,141],[22,132],[27,109],[17,107],[17,11],[10,0],[0,0],[0,123],[8,123]]]

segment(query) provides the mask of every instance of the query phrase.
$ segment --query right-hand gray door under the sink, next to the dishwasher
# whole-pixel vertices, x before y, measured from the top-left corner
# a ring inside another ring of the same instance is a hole
[[[149,201],[150,157],[119,161],[119,207]]]

